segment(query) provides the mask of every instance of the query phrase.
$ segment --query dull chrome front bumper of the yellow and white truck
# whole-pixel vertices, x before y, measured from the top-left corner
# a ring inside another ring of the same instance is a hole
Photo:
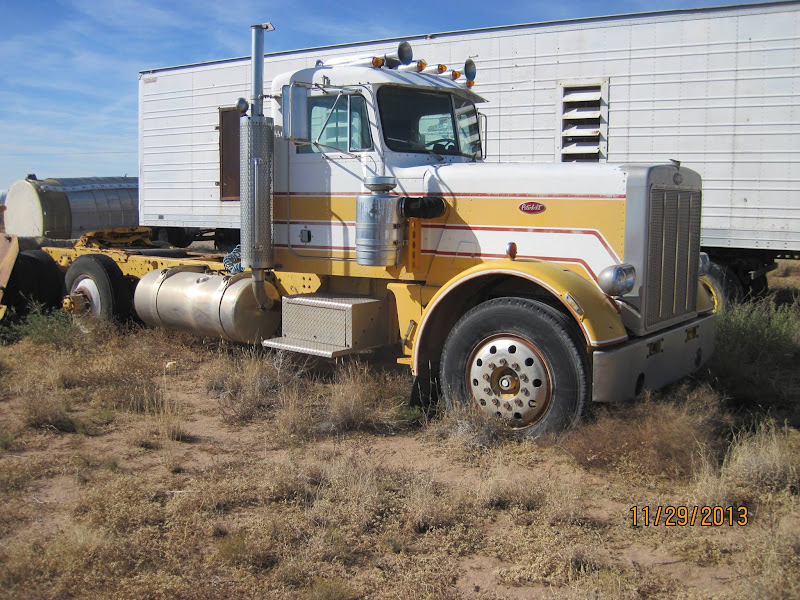
[[[714,315],[698,317],[651,336],[592,355],[592,400],[629,400],[700,368],[714,353]]]

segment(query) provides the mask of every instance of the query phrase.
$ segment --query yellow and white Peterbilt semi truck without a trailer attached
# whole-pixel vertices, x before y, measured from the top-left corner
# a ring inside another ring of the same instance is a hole
[[[218,144],[224,174],[237,155],[226,211],[239,212],[238,252],[152,247],[142,227],[22,252],[6,235],[0,284],[20,272],[63,285],[77,318],[134,314],[327,358],[386,349],[423,399],[433,382],[447,407],[520,435],[568,429],[587,402],[631,398],[709,359],[698,173],[677,160],[488,162],[475,61],[428,64],[408,42],[278,74],[265,93],[272,29],[252,28],[249,101],[229,101],[226,131],[197,140]],[[159,139],[163,172],[193,160]]]

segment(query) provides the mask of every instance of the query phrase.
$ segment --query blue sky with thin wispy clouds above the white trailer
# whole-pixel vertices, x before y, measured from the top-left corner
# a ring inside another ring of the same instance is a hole
[[[742,3],[443,0],[421,8],[374,0],[0,0],[0,190],[28,173],[136,175],[139,71],[248,55],[252,23],[275,25],[266,37],[270,52]]]

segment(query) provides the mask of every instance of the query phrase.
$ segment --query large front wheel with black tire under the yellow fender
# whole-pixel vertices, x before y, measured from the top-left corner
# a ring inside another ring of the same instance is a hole
[[[525,298],[467,312],[447,337],[440,375],[448,410],[471,406],[526,437],[574,427],[589,395],[588,363],[566,319]]]

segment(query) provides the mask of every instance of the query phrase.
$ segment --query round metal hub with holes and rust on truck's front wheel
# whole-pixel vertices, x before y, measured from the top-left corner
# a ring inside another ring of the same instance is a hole
[[[548,367],[538,348],[523,338],[504,334],[484,340],[470,355],[466,375],[477,406],[514,428],[533,425],[550,405]]]

